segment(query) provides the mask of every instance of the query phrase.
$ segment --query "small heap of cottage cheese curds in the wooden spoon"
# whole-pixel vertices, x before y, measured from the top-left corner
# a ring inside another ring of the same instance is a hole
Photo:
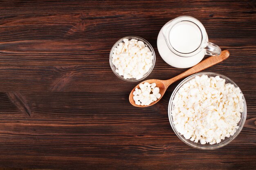
[[[159,88],[156,87],[155,83],[149,84],[145,82],[144,84],[139,84],[139,88],[135,88],[132,93],[135,104],[148,106],[150,103],[157,101],[161,97],[159,93]]]

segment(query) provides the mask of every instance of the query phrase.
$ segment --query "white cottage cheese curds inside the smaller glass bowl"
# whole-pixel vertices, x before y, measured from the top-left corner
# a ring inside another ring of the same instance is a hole
[[[141,79],[153,65],[153,53],[142,41],[124,39],[113,50],[112,63],[125,79]]]

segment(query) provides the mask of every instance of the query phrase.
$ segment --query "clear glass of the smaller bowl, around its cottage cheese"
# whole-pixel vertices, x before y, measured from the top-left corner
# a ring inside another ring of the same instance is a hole
[[[123,42],[124,39],[128,39],[128,40],[131,40],[131,39],[135,39],[135,40],[138,40],[138,41],[142,41],[144,42],[144,44],[146,44],[146,46],[148,46],[148,48],[150,49],[150,51],[152,52],[152,55],[153,55],[153,60],[152,60],[152,66],[151,68],[148,70],[148,72],[146,74],[143,75],[143,77],[141,79],[136,79],[136,78],[131,78],[131,79],[125,79],[124,76],[122,75],[119,75],[117,72],[116,72],[116,67],[115,65],[112,63],[112,55],[113,55],[113,51],[114,49],[117,47],[117,45],[120,43],[120,42]],[[142,79],[148,77],[148,75],[153,71],[153,68],[155,66],[155,51],[153,49],[153,47],[149,44],[148,41],[146,41],[145,39],[141,38],[141,37],[136,37],[136,36],[128,36],[128,37],[124,37],[124,38],[121,38],[120,40],[118,40],[112,47],[111,51],[110,51],[110,54],[109,54],[109,63],[110,63],[110,67],[112,68],[112,71],[115,73],[115,75],[125,81],[128,81],[128,82],[139,82],[141,81]]]

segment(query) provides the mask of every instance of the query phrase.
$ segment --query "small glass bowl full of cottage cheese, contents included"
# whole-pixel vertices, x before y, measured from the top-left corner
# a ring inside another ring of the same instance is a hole
[[[112,47],[109,60],[115,75],[126,81],[137,82],[153,70],[155,52],[143,38],[124,37]]]

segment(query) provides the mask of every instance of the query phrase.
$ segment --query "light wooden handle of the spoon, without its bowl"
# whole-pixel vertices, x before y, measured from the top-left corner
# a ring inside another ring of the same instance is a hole
[[[226,60],[228,57],[229,57],[229,51],[227,50],[222,51],[219,56],[208,57],[207,59],[189,68],[187,71],[181,73],[180,75],[177,75],[171,79],[166,80],[165,85],[169,86],[170,84],[172,84],[173,82],[176,82],[179,79],[198,73],[210,66],[213,66],[215,64],[218,64],[219,62],[222,62],[223,60]]]

